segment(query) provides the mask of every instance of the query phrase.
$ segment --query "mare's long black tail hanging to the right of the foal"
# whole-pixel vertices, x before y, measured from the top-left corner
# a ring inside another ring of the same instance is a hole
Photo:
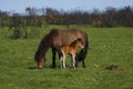
[[[86,38],[84,48],[78,55],[78,61],[82,61],[82,60],[85,59],[86,53],[88,53],[88,48],[89,48],[89,41],[88,41],[88,38]]]

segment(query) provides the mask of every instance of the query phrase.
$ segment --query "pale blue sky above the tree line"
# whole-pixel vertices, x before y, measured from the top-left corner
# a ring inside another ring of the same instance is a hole
[[[0,10],[13,12],[24,12],[28,7],[90,11],[93,9],[105,10],[108,7],[119,9],[125,6],[133,7],[133,0],[0,0]]]

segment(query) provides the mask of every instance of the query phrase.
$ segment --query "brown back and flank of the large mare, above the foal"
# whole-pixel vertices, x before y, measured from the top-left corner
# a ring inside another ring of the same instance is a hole
[[[81,38],[84,40],[85,33],[82,30],[52,30],[52,42],[54,46],[70,44]]]

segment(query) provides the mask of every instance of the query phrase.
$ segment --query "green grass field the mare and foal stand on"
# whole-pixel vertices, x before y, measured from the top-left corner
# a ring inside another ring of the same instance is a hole
[[[79,27],[90,39],[86,68],[79,63],[75,70],[60,69],[57,60],[52,69],[50,50],[45,68],[37,69],[34,52],[51,28],[65,29],[48,26],[38,38],[12,40],[8,29],[0,28],[0,89],[133,89],[133,28]],[[111,65],[119,69],[106,70]]]

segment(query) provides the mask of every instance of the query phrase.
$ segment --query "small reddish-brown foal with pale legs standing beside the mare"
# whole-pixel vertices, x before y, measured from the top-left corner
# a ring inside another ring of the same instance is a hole
[[[78,52],[78,48],[83,49],[83,42],[81,39],[76,39],[75,41],[73,41],[71,44],[63,44],[60,47],[60,51],[61,51],[61,58],[60,58],[60,65],[61,68],[65,68],[65,58],[66,55],[71,55],[71,66],[73,66],[73,68],[75,68],[75,56]]]

